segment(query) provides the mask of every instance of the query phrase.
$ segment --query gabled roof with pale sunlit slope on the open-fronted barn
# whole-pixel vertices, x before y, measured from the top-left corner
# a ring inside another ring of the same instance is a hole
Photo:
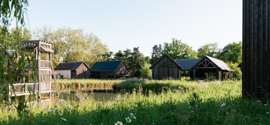
[[[203,58],[201,58],[201,60],[197,63],[199,64],[201,61],[203,61],[205,58],[208,58],[208,60],[210,60],[211,62],[213,62],[218,68],[220,68],[221,70],[228,70],[228,71],[233,71],[231,70],[231,68],[226,64],[224,63],[222,60],[218,60],[216,58],[213,58],[213,57],[209,57],[207,55],[205,55]],[[195,64],[195,65],[197,65]],[[194,66],[195,66],[194,65]],[[194,67],[193,67],[194,68]]]

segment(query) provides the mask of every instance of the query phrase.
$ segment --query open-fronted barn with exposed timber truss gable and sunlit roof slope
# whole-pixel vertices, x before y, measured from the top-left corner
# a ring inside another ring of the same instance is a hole
[[[193,78],[213,78],[213,79],[230,79],[232,71],[230,67],[221,60],[205,55],[192,68]]]

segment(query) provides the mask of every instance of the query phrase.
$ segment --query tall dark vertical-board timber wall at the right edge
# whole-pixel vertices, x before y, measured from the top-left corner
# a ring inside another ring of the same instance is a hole
[[[243,0],[243,96],[270,92],[270,0]]]

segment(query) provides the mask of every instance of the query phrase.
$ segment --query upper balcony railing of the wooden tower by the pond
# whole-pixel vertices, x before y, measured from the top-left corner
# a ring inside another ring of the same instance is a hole
[[[40,68],[50,68],[50,61],[48,60],[40,60]],[[25,68],[33,68],[36,66],[38,68],[38,61],[37,60],[30,60],[30,64],[25,61]]]

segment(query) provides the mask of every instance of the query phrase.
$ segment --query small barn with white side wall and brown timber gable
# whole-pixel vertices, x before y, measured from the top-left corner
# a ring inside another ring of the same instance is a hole
[[[60,63],[54,70],[57,78],[90,78],[90,68],[85,62]]]

